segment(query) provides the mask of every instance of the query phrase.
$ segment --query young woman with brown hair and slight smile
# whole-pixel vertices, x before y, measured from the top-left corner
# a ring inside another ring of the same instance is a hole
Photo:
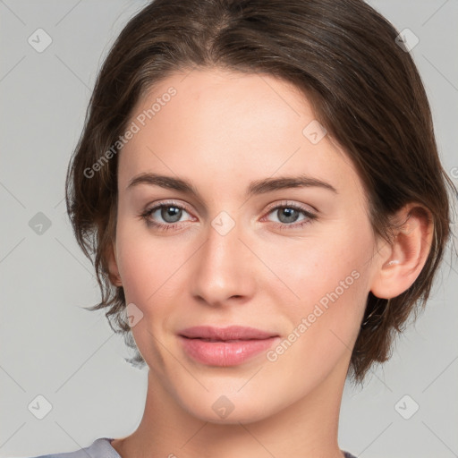
[[[449,237],[398,35],[360,0],[157,0],[129,21],[67,208],[148,394],[130,436],[67,458],[353,456],[345,379],[387,360]]]

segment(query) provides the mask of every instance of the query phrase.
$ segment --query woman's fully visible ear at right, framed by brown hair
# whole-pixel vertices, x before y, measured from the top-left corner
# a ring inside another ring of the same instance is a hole
[[[399,210],[394,221],[394,242],[378,251],[377,269],[370,291],[391,299],[410,288],[427,259],[434,233],[428,208],[411,203]]]

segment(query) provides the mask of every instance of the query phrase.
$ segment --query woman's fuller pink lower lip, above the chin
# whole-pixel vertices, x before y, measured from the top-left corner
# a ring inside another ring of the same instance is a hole
[[[260,352],[266,352],[279,337],[244,340],[239,342],[208,342],[179,336],[184,351],[202,364],[210,366],[236,366]]]

